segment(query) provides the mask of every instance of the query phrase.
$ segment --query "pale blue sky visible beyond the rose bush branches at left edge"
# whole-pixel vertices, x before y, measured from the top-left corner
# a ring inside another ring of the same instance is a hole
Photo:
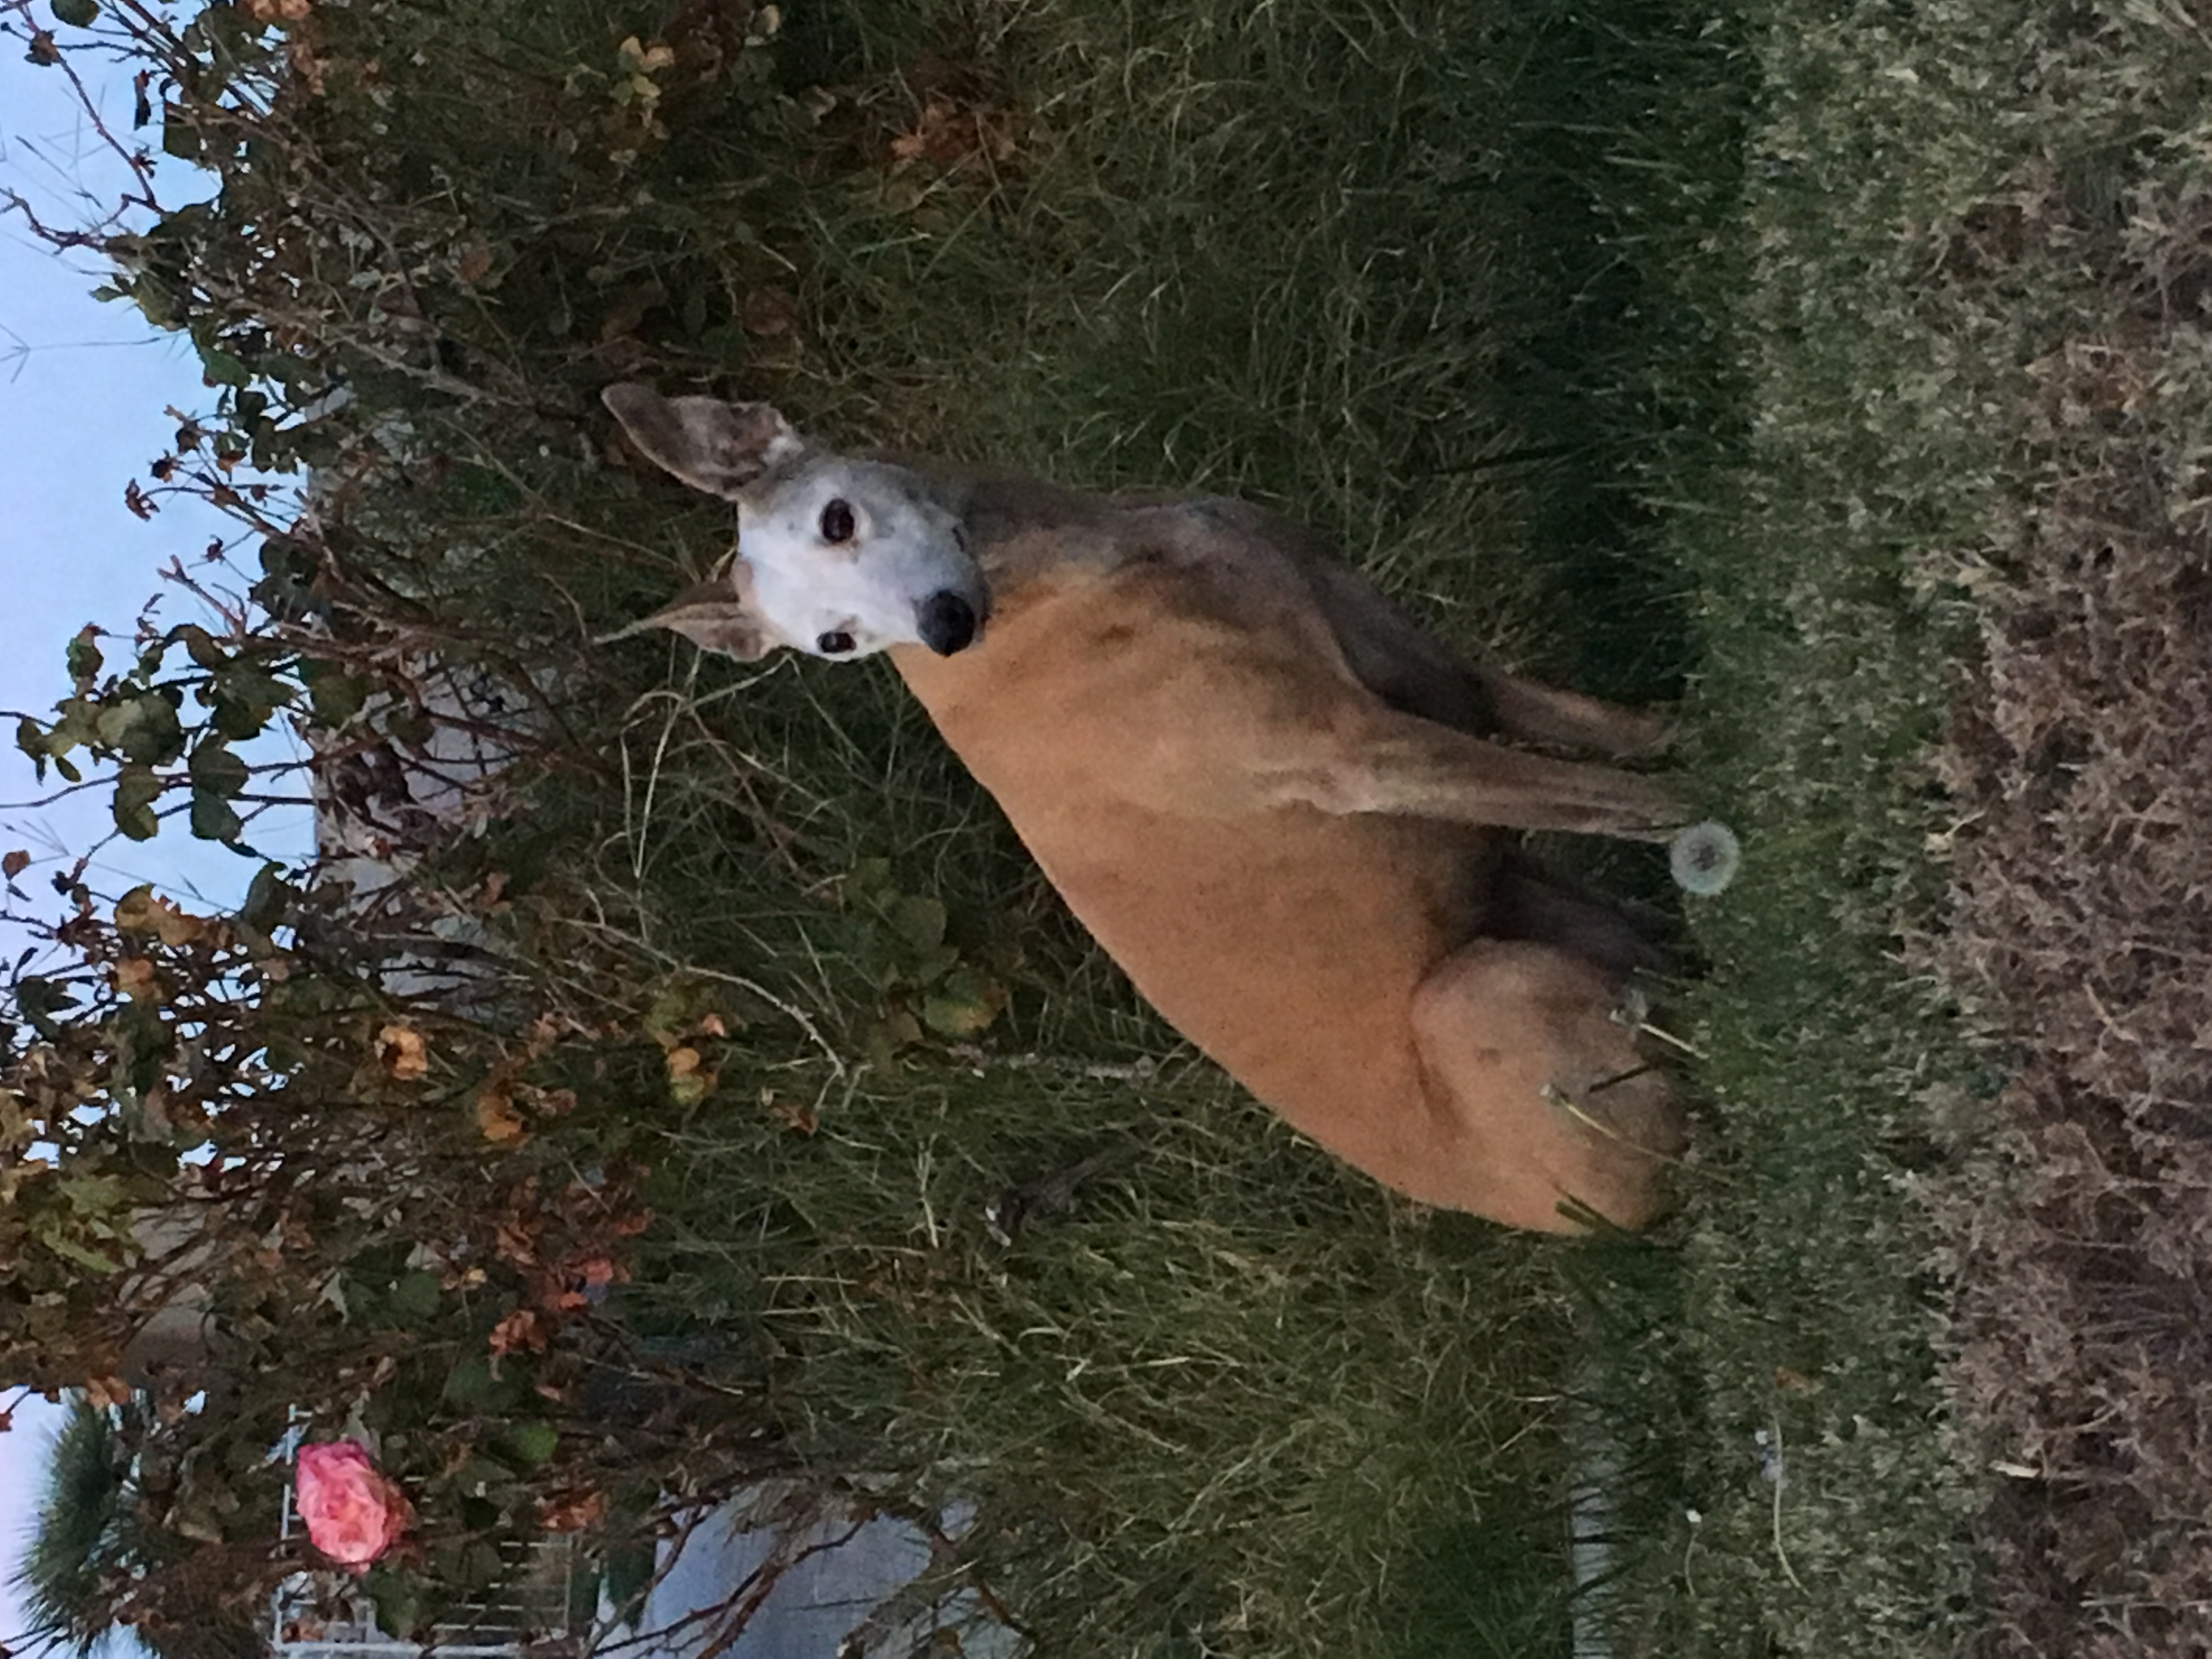
[[[111,73],[100,91],[128,131],[128,77]],[[29,197],[49,223],[75,226],[119,177],[122,166],[75,113],[69,84],[24,62],[18,40],[0,40],[0,186]],[[192,179],[175,184],[188,199]],[[0,710],[51,712],[69,690],[62,644],[86,622],[128,637],[155,593],[166,595],[164,617],[192,617],[188,595],[166,588],[157,571],[179,555],[192,564],[223,529],[212,511],[186,502],[153,522],[124,509],[124,484],[146,478],[175,431],[164,409],[201,407],[212,394],[181,341],[155,334],[135,310],[95,303],[88,290],[97,281],[97,261],[71,268],[18,219],[0,219]],[[51,794],[55,779],[33,779],[13,730],[11,717],[0,721],[0,852],[31,854],[18,885],[38,896],[51,891],[44,876],[106,836],[113,821],[102,792],[29,805]],[[179,825],[150,843],[111,841],[93,880],[102,891],[153,880],[221,900],[250,874],[250,863],[190,841]],[[0,929],[9,960],[22,945]],[[15,1411],[13,1431],[0,1433],[0,1577],[13,1573],[44,1484],[53,1416],[33,1400]],[[15,1606],[0,1588],[0,1644],[15,1630]],[[115,1644],[108,1652],[126,1659],[139,1648]]]

